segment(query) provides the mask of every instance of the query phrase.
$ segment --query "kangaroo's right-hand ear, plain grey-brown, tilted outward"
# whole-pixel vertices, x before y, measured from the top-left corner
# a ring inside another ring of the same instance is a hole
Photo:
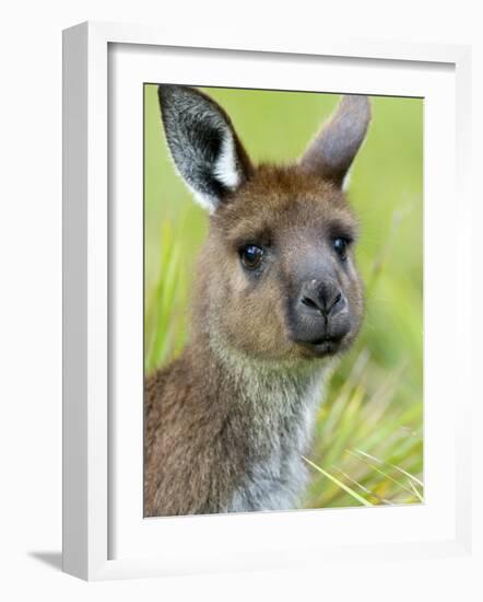
[[[367,132],[370,104],[367,96],[343,96],[299,160],[302,167],[342,186]]]

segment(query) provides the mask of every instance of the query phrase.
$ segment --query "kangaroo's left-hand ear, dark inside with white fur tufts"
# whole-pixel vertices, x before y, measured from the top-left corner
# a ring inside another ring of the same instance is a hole
[[[175,165],[198,202],[213,212],[251,172],[221,106],[193,88],[160,85],[160,106]]]

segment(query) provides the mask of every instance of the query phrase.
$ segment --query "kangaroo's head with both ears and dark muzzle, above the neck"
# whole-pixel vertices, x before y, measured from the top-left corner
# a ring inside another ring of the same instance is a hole
[[[226,113],[201,92],[158,89],[175,165],[210,212],[198,264],[198,327],[259,361],[346,349],[363,315],[356,220],[343,181],[370,118],[344,96],[304,155],[254,166]]]

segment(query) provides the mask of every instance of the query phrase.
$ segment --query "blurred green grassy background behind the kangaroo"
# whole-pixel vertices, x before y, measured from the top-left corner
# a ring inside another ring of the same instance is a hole
[[[254,162],[292,162],[334,94],[203,89]],[[372,97],[351,173],[366,316],[320,406],[306,508],[423,501],[423,100]],[[208,216],[176,175],[156,85],[144,85],[145,369],[182,349],[193,259]]]

